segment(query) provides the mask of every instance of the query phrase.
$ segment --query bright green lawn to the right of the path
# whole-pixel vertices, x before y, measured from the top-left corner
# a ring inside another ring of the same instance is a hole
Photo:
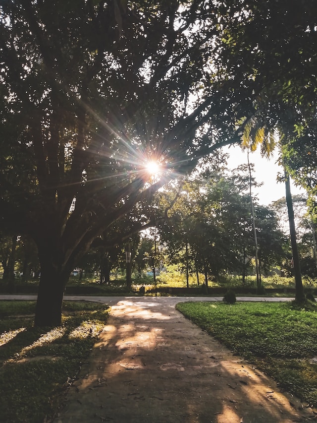
[[[268,302],[183,302],[176,308],[281,388],[317,406],[315,303],[308,311]]]

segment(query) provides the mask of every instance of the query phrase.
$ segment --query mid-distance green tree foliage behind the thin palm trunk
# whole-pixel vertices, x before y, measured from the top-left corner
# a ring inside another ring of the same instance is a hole
[[[173,198],[173,205],[158,228],[168,263],[178,264],[187,276],[204,274],[206,285],[211,277],[218,280],[227,274],[241,275],[244,281],[253,272],[255,256],[247,190],[241,170],[227,177],[204,175],[165,190],[162,197],[167,203]],[[290,254],[288,242],[271,209],[256,204],[255,217],[260,268],[267,273],[274,265],[281,267]]]

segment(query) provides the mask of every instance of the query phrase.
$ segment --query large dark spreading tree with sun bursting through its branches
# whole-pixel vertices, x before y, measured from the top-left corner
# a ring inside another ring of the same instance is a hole
[[[60,323],[69,274],[97,236],[233,140],[221,83],[194,97],[213,77],[217,20],[204,3],[1,3],[1,224],[37,244],[36,325]],[[157,181],[149,160],[165,165]]]

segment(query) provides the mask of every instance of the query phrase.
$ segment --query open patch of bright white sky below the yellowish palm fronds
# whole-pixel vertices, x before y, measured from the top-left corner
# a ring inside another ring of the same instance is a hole
[[[225,150],[229,154],[227,160],[229,169],[235,169],[241,164],[248,163],[247,152],[242,151],[240,146],[230,146]],[[275,155],[276,156],[276,155]],[[255,174],[253,175],[257,182],[264,182],[262,186],[253,189],[253,195],[258,197],[261,205],[269,205],[272,201],[285,197],[284,182],[277,182],[277,174],[283,174],[283,168],[276,164],[277,157],[267,160],[261,157],[260,149],[249,155],[250,163],[255,164]],[[303,193],[291,181],[292,195]]]

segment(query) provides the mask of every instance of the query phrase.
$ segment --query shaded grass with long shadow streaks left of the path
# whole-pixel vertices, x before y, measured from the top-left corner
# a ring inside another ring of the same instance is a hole
[[[39,329],[35,302],[0,302],[0,422],[52,421],[106,324],[107,308],[64,302],[62,325]]]

